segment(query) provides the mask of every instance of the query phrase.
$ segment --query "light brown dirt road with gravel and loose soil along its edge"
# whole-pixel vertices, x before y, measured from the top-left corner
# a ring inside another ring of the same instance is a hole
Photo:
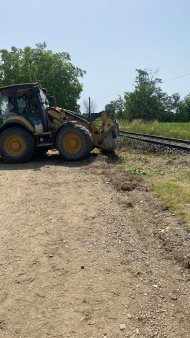
[[[189,233],[144,182],[54,155],[0,184],[0,337],[190,337]]]

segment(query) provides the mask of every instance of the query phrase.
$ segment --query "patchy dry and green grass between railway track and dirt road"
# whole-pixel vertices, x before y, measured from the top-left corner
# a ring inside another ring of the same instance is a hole
[[[122,140],[119,166],[147,180],[156,196],[190,227],[190,158],[157,151],[138,141]]]

